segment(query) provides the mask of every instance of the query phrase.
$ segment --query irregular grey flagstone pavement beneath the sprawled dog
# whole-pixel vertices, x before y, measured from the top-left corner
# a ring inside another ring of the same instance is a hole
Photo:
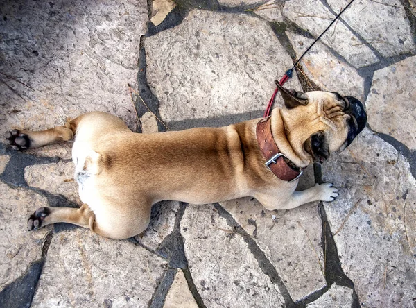
[[[0,134],[94,110],[144,133],[261,117],[346,4],[3,0]],[[301,180],[333,182],[333,203],[164,201],[124,241],[27,232],[37,207],[80,205],[71,144],[0,143],[0,307],[416,307],[415,43],[415,0],[356,0],[286,84],[367,108],[353,144]]]

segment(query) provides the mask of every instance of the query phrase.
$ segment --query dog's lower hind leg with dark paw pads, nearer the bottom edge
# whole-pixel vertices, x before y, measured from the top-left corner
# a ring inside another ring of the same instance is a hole
[[[28,230],[36,230],[51,223],[72,223],[94,230],[95,215],[88,205],[79,209],[71,207],[40,207],[28,219]]]

